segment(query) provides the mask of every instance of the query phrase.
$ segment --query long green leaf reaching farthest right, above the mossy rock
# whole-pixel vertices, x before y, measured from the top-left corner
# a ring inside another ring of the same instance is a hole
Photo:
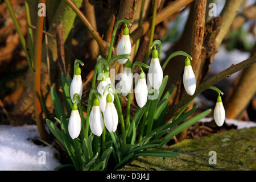
[[[210,113],[210,111],[212,110],[211,109],[205,110],[203,113],[197,114],[195,117],[188,119],[188,121],[185,121],[181,125],[177,126],[174,130],[168,133],[166,137],[164,137],[162,143],[160,143],[158,147],[162,147],[164,144],[168,142],[168,140],[174,138],[175,135],[179,134],[181,131],[187,129],[187,127],[195,124],[197,121],[207,116]]]

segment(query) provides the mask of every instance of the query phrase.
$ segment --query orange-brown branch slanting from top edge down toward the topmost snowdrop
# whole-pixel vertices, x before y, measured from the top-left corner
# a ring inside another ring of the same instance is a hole
[[[159,24],[164,19],[176,13],[181,9],[181,7],[188,5],[192,1],[193,0],[179,0],[172,2],[170,5],[166,6],[162,11],[156,14],[155,25]],[[150,28],[151,19],[152,18],[147,19],[141,24],[141,26],[133,31],[133,33],[130,35],[131,44],[134,44],[139,38],[146,34],[148,29]]]

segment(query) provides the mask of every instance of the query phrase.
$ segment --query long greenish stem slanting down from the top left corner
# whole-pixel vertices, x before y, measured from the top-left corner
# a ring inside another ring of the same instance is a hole
[[[32,59],[31,59],[31,55],[27,51],[26,40],[24,39],[22,31],[20,30],[18,20],[16,19],[16,16],[14,14],[13,8],[11,7],[11,4],[10,4],[9,0],[5,0],[5,3],[6,3],[6,6],[7,6],[8,10],[9,10],[10,15],[11,15],[11,18],[13,19],[16,31],[18,32],[20,43],[22,44],[23,50],[24,50],[24,52],[26,54],[30,70],[33,72],[33,63],[32,63]]]

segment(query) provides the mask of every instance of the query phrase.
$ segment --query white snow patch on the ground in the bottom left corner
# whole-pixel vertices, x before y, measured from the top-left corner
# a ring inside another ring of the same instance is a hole
[[[48,171],[60,166],[53,149],[34,144],[33,138],[40,138],[35,125],[0,125],[0,170]]]

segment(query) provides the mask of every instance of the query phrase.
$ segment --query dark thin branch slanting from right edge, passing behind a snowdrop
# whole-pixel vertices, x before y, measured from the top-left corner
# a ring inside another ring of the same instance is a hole
[[[201,92],[208,89],[209,86],[216,84],[218,81],[221,81],[225,77],[229,77],[233,73],[236,73],[244,68],[249,67],[250,65],[256,63],[256,55],[250,57],[247,60],[242,61],[236,65],[232,65],[228,69],[214,75],[213,77],[209,78],[207,81],[204,81],[202,84],[197,86],[195,94],[193,96],[189,96],[186,94],[171,110],[167,113],[166,118],[170,119],[174,117],[174,115],[179,111],[182,107],[184,107],[189,101],[193,100],[196,96],[198,96]]]

